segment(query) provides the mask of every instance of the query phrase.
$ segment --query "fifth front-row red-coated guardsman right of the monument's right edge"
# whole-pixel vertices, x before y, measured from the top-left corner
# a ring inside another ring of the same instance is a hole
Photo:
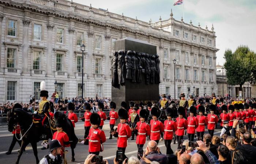
[[[209,108],[211,113],[207,115],[207,119],[208,119],[207,129],[209,134],[211,134],[211,137],[212,137],[215,129],[215,124],[218,123],[218,116],[214,114],[214,112],[216,111],[215,105],[211,104]]]

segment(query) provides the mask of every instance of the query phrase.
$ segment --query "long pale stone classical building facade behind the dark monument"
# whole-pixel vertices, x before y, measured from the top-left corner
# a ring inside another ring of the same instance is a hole
[[[39,99],[42,80],[50,95],[57,81],[60,97],[80,96],[82,76],[84,97],[111,97],[113,42],[126,37],[157,46],[159,94],[174,97],[174,58],[176,97],[217,92],[214,28],[175,20],[172,12],[152,23],[67,0],[5,0],[0,31],[0,102]]]

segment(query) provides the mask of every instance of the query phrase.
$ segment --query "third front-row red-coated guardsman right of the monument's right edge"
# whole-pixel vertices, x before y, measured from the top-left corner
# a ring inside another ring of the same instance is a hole
[[[196,128],[198,127],[198,120],[196,118],[196,107],[195,106],[191,106],[189,108],[189,114],[190,114],[190,116],[188,116],[188,129],[187,129],[188,140],[194,141]]]

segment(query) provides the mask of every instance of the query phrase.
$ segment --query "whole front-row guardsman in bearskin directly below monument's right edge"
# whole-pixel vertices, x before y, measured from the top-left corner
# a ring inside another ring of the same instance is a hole
[[[161,111],[154,106],[151,109],[150,113],[152,116],[152,120],[150,120],[150,129],[151,129],[150,140],[154,140],[158,144],[161,136],[160,134],[164,132],[163,123],[158,120],[158,118],[161,115]]]

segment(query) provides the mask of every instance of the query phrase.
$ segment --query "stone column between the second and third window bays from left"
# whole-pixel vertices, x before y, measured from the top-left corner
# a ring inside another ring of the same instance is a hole
[[[46,76],[52,77],[53,76],[53,66],[52,66],[52,32],[54,25],[47,24],[47,52],[46,52]]]

